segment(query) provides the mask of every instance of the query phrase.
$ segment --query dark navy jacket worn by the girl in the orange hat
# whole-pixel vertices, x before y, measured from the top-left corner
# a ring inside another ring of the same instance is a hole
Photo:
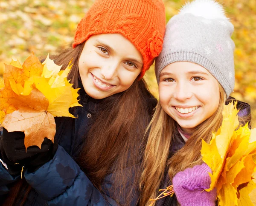
[[[49,162],[41,166],[35,172],[26,171],[26,181],[32,186],[32,191],[25,206],[116,206],[111,198],[111,175],[104,179],[102,188],[104,194],[96,189],[89,178],[81,171],[79,165],[74,161],[83,143],[83,136],[90,127],[93,116],[97,112],[100,100],[87,96],[84,90],[75,116],[77,119],[57,117],[55,141],[59,143],[58,149]],[[154,106],[156,99],[153,99]],[[9,187],[17,181],[20,175],[13,177],[0,163],[0,199],[9,192]],[[132,181],[132,180],[131,180]],[[132,205],[136,205],[139,198],[138,188],[127,188],[134,190],[135,197]],[[118,200],[122,203],[122,200]],[[0,201],[1,202],[1,201]]]

